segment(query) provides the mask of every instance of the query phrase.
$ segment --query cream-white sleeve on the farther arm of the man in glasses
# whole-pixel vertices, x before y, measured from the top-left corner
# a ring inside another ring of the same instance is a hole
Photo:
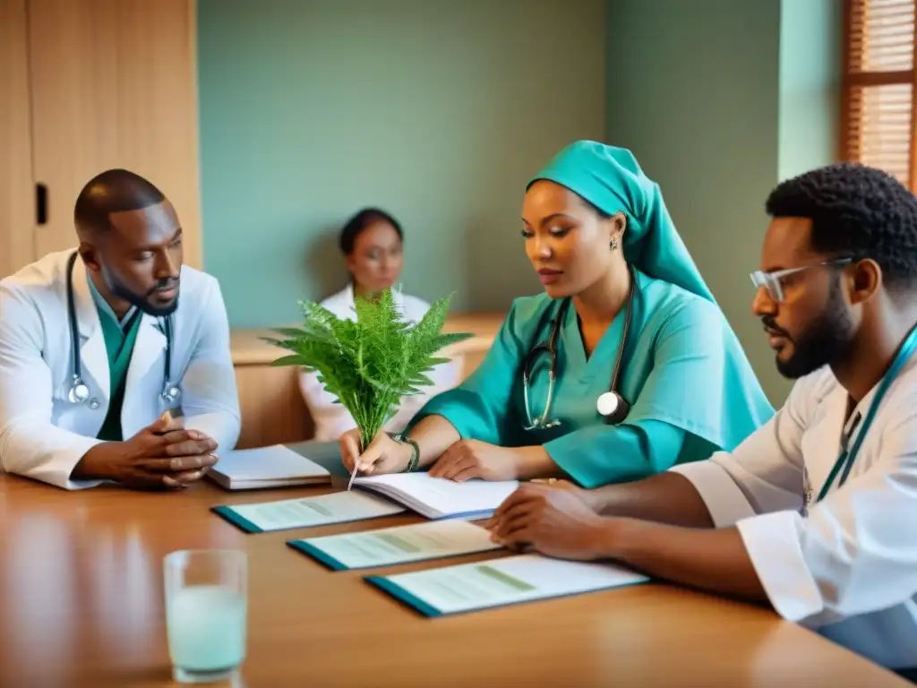
[[[812,383],[793,385],[786,403],[732,453],[674,466],[701,494],[716,527],[733,526],[747,516],[802,506],[802,435]]]

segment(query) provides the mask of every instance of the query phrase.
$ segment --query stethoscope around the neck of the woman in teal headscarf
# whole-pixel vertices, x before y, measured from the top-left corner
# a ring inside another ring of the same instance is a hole
[[[621,374],[621,361],[624,357],[624,347],[627,346],[627,333],[630,330],[631,318],[634,313],[634,290],[637,288],[637,277],[634,266],[628,265],[628,268],[631,272],[631,285],[627,293],[627,314],[624,319],[624,334],[621,337],[621,346],[618,348],[617,361],[614,362],[612,384],[609,391],[600,394],[595,403],[596,410],[604,417],[605,423],[609,425],[621,423],[630,412],[630,404],[624,399],[624,396],[618,392],[618,378]],[[559,419],[547,420],[547,416],[551,412],[551,403],[554,400],[554,382],[557,380],[558,376],[558,337],[560,336],[560,328],[563,327],[564,318],[567,316],[569,305],[570,299],[565,298],[558,308],[554,320],[551,322],[551,329],[547,336],[547,341],[538,344],[534,349],[530,350],[525,357],[522,372],[525,416],[528,420],[528,425],[523,426],[525,430],[543,430],[548,427],[560,425]],[[545,411],[541,417],[533,419],[528,401],[528,388],[531,383],[532,368],[535,365],[537,357],[543,351],[547,351],[551,359],[551,364],[547,371],[547,403],[545,404]]]

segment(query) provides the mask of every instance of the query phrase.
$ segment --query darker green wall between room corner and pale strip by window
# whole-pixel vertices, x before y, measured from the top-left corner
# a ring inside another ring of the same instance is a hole
[[[806,0],[803,0],[806,1]],[[612,0],[607,139],[634,150],[772,401],[748,273],[777,183],[779,2]]]

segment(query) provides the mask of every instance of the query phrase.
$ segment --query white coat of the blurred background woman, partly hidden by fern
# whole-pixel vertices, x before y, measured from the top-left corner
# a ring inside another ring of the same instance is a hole
[[[416,296],[394,292],[394,297],[395,303],[402,309],[405,320],[419,322],[430,308],[430,304]],[[353,319],[356,317],[353,285],[348,284],[337,294],[328,296],[321,302],[321,305],[337,317]],[[395,416],[383,429],[389,432],[401,432],[431,396],[458,385],[461,380],[462,358],[457,356],[452,361],[442,363],[427,373],[427,377],[433,381],[433,386],[425,388],[421,394],[410,394],[403,397]],[[343,405],[336,404],[335,395],[327,392],[322,383],[318,382],[318,373],[300,372],[299,383],[305,405],[315,422],[316,440],[336,440],[349,429],[357,427],[357,423],[348,410]]]

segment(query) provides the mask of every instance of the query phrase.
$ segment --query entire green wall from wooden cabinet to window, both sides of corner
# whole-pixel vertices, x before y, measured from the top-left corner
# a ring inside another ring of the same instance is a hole
[[[503,309],[540,289],[525,181],[605,139],[662,185],[779,403],[748,272],[768,191],[834,159],[840,5],[199,0],[204,267],[234,327],[295,320],[344,280],[337,227],[380,204],[408,233],[408,291]]]

